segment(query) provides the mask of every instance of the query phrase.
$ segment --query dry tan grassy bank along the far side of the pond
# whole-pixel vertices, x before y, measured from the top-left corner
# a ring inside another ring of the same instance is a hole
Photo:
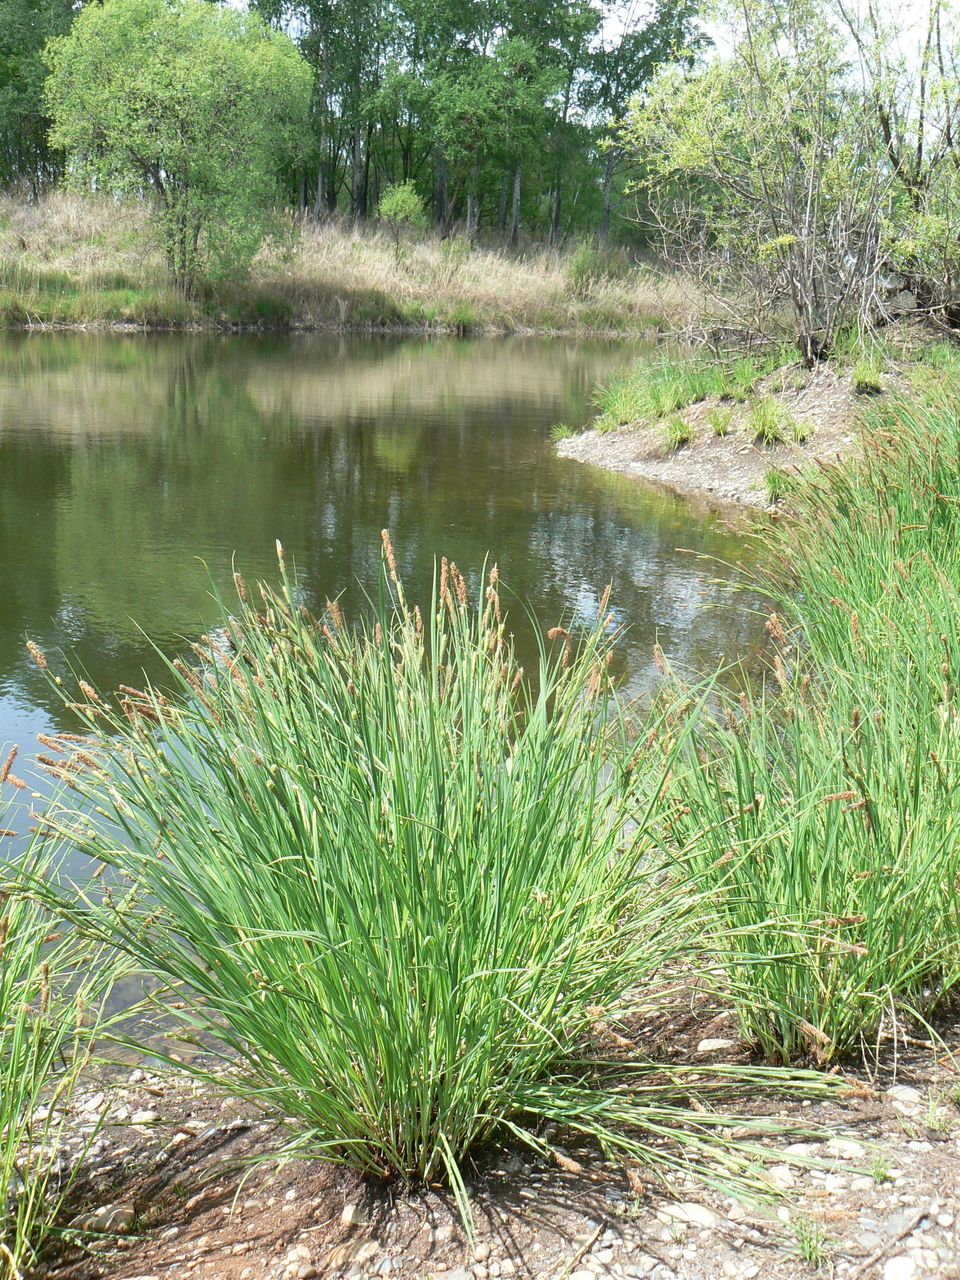
[[[287,225],[250,278],[170,288],[142,209],[58,193],[0,201],[0,325],[264,326],[438,333],[648,333],[694,305],[621,255],[408,243],[375,228]]]

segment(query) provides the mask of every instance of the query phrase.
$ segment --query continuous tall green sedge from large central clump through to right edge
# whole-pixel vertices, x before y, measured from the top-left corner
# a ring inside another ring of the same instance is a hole
[[[655,705],[621,703],[607,598],[540,634],[531,676],[495,570],[471,593],[442,562],[421,612],[385,536],[347,625],[282,554],[163,691],[64,673],[87,733],[50,740],[46,826],[125,888],[12,901],[123,954],[218,1055],[168,1065],[228,1079],[297,1155],[444,1183],[467,1221],[474,1161],[562,1162],[558,1134],[769,1194],[782,1123],[735,1140],[733,1110],[929,1037],[960,984],[960,370],[937,364],[759,535],[769,671],[740,698],[658,652]],[[645,1052],[685,975],[754,1062]]]

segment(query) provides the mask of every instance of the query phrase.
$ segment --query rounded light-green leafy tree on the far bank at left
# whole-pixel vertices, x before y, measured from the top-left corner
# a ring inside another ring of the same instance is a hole
[[[204,0],[104,0],[45,58],[70,180],[148,192],[179,288],[246,268],[306,128],[311,77],[293,44]]]

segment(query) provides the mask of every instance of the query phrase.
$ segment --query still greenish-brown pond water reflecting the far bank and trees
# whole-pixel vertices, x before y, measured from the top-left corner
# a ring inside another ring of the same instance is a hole
[[[476,582],[489,553],[544,625],[593,617],[613,582],[632,691],[653,678],[655,639],[700,668],[748,654],[759,625],[721,564],[742,558],[742,536],[554,456],[550,426],[585,422],[591,388],[635,353],[557,339],[0,338],[0,742],[26,753],[36,732],[72,727],[26,639],[96,685],[137,684],[159,671],[151,641],[178,650],[204,630],[210,584],[229,591],[234,559],[247,579],[274,575],[278,538],[307,602],[339,593],[348,613],[375,584],[384,526],[412,599],[436,554]]]

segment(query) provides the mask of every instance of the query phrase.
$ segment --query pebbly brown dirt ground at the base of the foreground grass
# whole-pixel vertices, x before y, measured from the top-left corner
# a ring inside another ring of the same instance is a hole
[[[316,1161],[256,1164],[279,1126],[169,1070],[124,1068],[77,1100],[96,1130],[70,1212],[102,1235],[50,1280],[845,1280],[960,1277],[960,1018],[851,1065],[828,1102],[753,1098],[804,1125],[771,1140],[772,1203],[664,1187],[564,1134],[564,1167],[489,1153],[470,1178],[476,1239],[440,1188],[364,1183]],[[749,1061],[732,1019],[687,992],[637,1041],[672,1061]],[[954,1053],[957,1053],[954,1060]],[[229,1082],[228,1082],[229,1084]],[[101,1125],[99,1130],[97,1125]],[[736,1135],[735,1132],[731,1133]],[[579,1167],[577,1167],[579,1166]]]

